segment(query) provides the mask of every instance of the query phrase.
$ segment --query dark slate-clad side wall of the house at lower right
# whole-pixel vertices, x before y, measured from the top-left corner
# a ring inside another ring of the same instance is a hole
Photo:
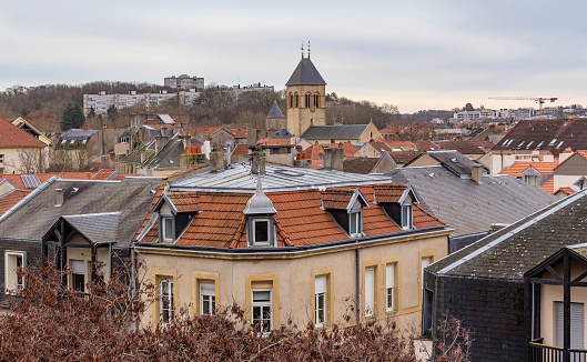
[[[425,278],[426,288],[435,291],[434,320],[444,320],[447,312],[472,330],[472,361],[524,361],[527,341],[523,280],[431,273]],[[438,339],[436,331],[433,338]]]

